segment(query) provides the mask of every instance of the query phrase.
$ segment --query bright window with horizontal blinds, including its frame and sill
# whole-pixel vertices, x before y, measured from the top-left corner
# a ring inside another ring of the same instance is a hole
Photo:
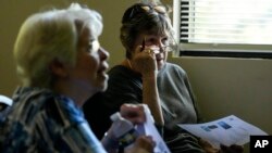
[[[271,0],[174,0],[173,17],[182,50],[272,51]]]

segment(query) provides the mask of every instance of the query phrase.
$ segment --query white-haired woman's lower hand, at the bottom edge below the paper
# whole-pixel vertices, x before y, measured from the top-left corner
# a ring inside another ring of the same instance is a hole
[[[125,153],[153,153],[156,142],[151,136],[140,136],[137,138],[133,148],[126,149]]]

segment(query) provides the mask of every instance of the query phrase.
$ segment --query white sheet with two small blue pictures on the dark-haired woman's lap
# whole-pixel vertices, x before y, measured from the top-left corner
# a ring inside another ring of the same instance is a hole
[[[260,128],[231,115],[205,124],[178,124],[178,126],[193,135],[209,141],[213,146],[220,144],[244,145],[249,142],[250,136],[267,136]]]

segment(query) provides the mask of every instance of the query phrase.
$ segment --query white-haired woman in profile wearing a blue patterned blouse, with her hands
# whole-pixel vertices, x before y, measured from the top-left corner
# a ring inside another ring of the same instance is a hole
[[[79,4],[24,22],[14,46],[22,87],[3,123],[0,152],[118,152],[110,140],[99,142],[82,111],[88,98],[107,88],[109,53],[99,44],[101,33],[100,14]],[[123,117],[129,119],[129,113],[143,117],[139,106],[121,109]],[[131,151],[152,149],[150,137],[139,137]]]

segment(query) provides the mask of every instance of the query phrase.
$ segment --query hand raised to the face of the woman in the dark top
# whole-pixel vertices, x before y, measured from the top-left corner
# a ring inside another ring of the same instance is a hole
[[[157,62],[154,55],[154,49],[152,47],[141,46],[136,48],[135,55],[132,59],[132,65],[141,75],[149,75],[157,71]]]

